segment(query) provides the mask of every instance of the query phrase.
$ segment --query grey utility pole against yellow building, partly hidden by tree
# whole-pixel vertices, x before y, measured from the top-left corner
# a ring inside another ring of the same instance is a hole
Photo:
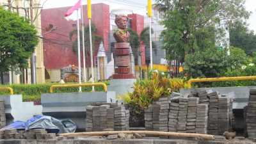
[[[33,25],[33,0],[29,0],[29,9],[30,9],[30,20],[31,25]],[[36,56],[35,52],[31,54],[30,58],[30,65],[31,65],[31,83],[36,84]]]

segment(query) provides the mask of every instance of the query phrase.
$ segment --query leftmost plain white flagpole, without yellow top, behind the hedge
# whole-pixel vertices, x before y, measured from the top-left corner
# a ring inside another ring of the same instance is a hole
[[[80,33],[79,33],[79,12],[77,12],[77,53],[78,53],[78,82],[81,84],[81,58],[80,58]],[[79,92],[82,92],[81,86],[79,86]]]

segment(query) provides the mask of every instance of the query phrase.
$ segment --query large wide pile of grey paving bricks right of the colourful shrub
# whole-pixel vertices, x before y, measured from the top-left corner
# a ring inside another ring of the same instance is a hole
[[[218,92],[200,90],[184,97],[161,98],[145,110],[145,128],[148,131],[222,135],[224,131],[230,131],[232,125],[232,99],[230,95]]]

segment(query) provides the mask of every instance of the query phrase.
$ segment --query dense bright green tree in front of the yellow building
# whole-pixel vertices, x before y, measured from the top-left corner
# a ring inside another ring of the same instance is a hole
[[[0,72],[28,67],[28,59],[38,44],[37,31],[29,19],[0,6]]]

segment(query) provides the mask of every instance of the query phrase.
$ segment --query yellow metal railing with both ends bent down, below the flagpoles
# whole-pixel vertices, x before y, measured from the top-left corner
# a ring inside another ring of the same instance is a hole
[[[50,93],[53,92],[53,88],[70,88],[79,86],[103,86],[104,92],[107,92],[107,85],[104,83],[83,83],[83,84],[62,84],[62,85],[52,85],[50,88]]]

